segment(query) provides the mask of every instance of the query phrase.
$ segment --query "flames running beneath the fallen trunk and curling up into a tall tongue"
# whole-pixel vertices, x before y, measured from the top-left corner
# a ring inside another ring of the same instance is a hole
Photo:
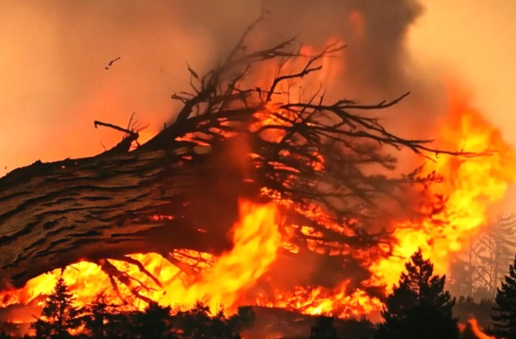
[[[204,262],[204,270],[196,281],[188,286],[179,279],[181,271],[159,254],[132,254],[130,257],[142,262],[147,271],[161,281],[164,289],[159,289],[159,286],[135,265],[109,259],[118,270],[131,276],[133,282],[137,279],[147,286],[144,288],[142,285],[134,284],[130,289],[119,284],[120,294],[128,303],[126,307],[142,309],[147,305],[135,298],[132,292],[137,292],[164,305],[193,306],[196,301],[202,300],[214,310],[221,305],[231,308],[238,296],[253,286],[256,279],[275,260],[282,242],[278,230],[279,222],[278,210],[274,203],[256,205],[242,200],[240,219],[233,225],[233,249],[216,259],[211,267],[207,263],[213,258],[207,254],[198,254],[201,262]],[[187,252],[184,254],[185,257],[195,255]],[[37,296],[50,294],[58,276],[60,270],[56,269],[31,279],[23,289],[0,294],[0,306],[29,303]],[[79,262],[70,265],[63,271],[63,279],[73,290],[76,303],[79,305],[91,303],[93,298],[102,292],[112,297],[115,303],[121,303],[109,277],[97,264]]]

